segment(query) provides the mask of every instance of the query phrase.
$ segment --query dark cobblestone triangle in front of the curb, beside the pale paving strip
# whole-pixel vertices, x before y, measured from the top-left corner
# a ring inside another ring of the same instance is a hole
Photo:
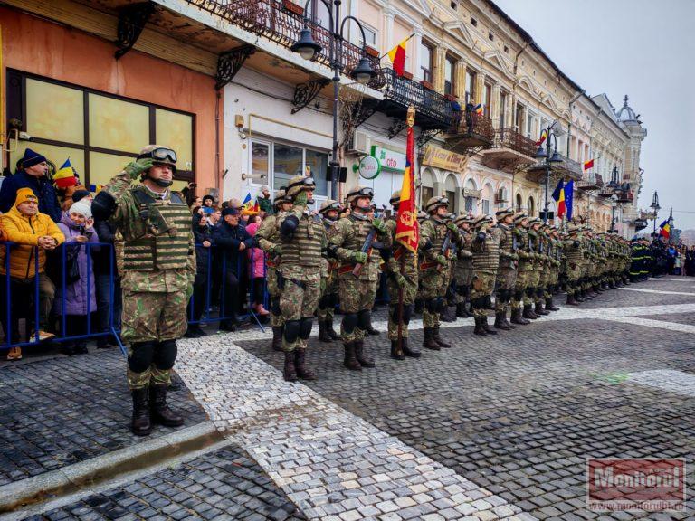
[[[27,521],[306,519],[243,450],[228,447]]]

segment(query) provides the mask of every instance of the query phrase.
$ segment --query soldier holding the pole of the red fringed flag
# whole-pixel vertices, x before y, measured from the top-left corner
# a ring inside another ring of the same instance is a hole
[[[391,357],[405,360],[405,356],[419,358],[420,351],[408,346],[408,324],[413,315],[415,297],[417,296],[417,261],[412,251],[395,241],[395,226],[398,222],[398,205],[401,191],[396,190],[389,203],[394,207],[394,215],[386,221],[386,228],[391,236],[393,254],[386,255],[384,271],[388,289],[388,339],[391,340]],[[403,315],[399,314],[399,294],[403,291]],[[401,323],[401,346],[398,346],[398,323]]]

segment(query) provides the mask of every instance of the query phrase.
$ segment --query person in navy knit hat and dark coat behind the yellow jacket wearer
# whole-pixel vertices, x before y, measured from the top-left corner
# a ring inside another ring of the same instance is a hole
[[[21,188],[30,188],[39,197],[39,213],[45,213],[54,223],[60,222],[61,204],[55,188],[46,177],[48,162],[45,156],[27,148],[19,165],[21,169],[6,177],[0,186],[0,212],[6,213],[14,206],[14,199]]]

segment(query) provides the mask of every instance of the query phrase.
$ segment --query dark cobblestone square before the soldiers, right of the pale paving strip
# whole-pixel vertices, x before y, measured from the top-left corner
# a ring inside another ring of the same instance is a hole
[[[636,286],[659,291],[665,283]],[[691,285],[664,290],[690,292]],[[319,380],[309,386],[539,519],[687,518],[589,512],[585,468],[588,457],[691,462],[695,336],[663,317],[695,312],[693,293],[611,291],[590,306],[564,309],[553,320],[496,337],[475,337],[471,327],[454,325],[443,328],[452,349],[426,352],[417,361],[391,360],[384,334],[370,336],[367,349],[377,367],[357,374],[342,369],[338,343],[312,338],[309,363]],[[649,317],[650,310],[659,320],[640,325],[634,317]],[[421,331],[412,342],[422,342]],[[267,340],[240,345],[281,369],[281,356]],[[442,511],[437,515],[446,518]],[[484,512],[471,515],[486,518]]]

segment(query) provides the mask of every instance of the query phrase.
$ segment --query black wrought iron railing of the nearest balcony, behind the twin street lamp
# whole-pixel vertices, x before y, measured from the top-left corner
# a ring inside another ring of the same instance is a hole
[[[311,30],[314,40],[322,47],[315,58],[316,62],[330,66],[330,47],[334,38],[330,29],[304,19],[299,5],[285,6],[278,0],[186,0],[208,13],[223,18],[230,24],[268,38],[288,49],[300,38],[305,25]],[[340,70],[348,75],[355,69],[363,56],[362,49],[347,40],[338,39]],[[380,71],[379,58],[367,56],[375,71]],[[380,87],[379,77],[369,83],[370,87]]]

